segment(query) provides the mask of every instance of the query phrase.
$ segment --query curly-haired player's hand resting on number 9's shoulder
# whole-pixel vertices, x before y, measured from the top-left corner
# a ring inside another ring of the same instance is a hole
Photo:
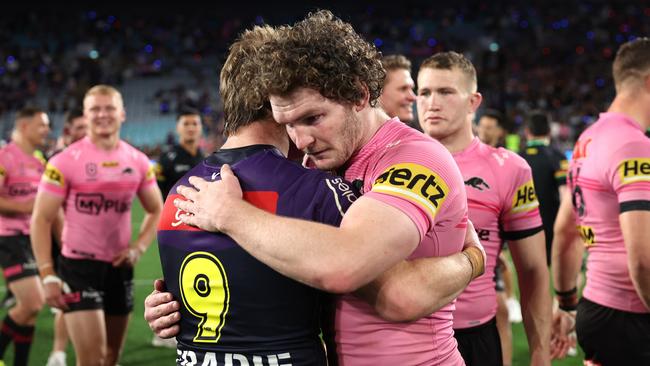
[[[184,211],[181,221],[206,231],[224,231],[228,214],[238,201],[242,201],[239,180],[228,164],[221,167],[221,180],[208,182],[203,178],[190,177],[193,187],[178,186],[176,192],[185,200],[177,198],[174,206]]]

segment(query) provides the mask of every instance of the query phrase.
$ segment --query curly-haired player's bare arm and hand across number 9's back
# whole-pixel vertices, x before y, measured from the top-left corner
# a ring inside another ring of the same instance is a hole
[[[310,286],[346,293],[367,284],[406,258],[420,241],[410,218],[397,208],[362,197],[340,227],[276,216],[242,199],[241,186],[227,165],[220,181],[198,177],[179,186],[176,199],[189,225],[221,231],[276,271]]]

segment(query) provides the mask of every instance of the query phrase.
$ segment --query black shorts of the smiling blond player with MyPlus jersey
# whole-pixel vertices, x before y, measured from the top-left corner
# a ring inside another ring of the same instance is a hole
[[[103,309],[107,315],[127,315],[133,310],[133,268],[64,256],[58,266],[70,290],[65,294],[66,312]]]

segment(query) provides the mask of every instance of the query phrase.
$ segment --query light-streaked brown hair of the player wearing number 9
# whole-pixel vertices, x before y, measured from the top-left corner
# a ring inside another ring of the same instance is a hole
[[[284,29],[255,26],[244,31],[230,46],[219,81],[226,136],[243,126],[271,117],[268,94],[259,87],[257,58],[261,54],[260,48],[277,40]]]

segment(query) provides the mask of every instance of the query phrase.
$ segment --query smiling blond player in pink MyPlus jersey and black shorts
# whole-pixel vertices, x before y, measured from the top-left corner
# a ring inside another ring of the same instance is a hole
[[[114,365],[133,309],[133,267],[154,238],[162,197],[147,156],[120,139],[126,118],[120,93],[97,85],[83,106],[89,134],[48,163],[31,237],[46,301],[65,312],[77,364]],[[136,195],[145,216],[131,242]],[[55,273],[49,232],[61,207],[65,221]]]

